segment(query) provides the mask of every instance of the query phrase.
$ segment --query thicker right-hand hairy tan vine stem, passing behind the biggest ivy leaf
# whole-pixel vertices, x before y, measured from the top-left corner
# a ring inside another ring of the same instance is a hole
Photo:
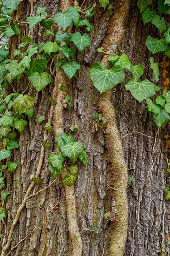
[[[103,47],[109,49],[112,43],[120,44],[124,36],[124,27],[128,15],[130,0],[121,0],[115,8],[113,19],[108,30],[108,37],[103,42]],[[102,63],[108,66],[107,58],[104,57]],[[110,171],[115,175],[114,186],[119,190],[114,190],[113,200],[116,201],[117,219],[110,231],[110,255],[123,256],[128,229],[128,200],[127,200],[127,168],[124,161],[122,140],[116,124],[115,110],[112,105],[112,92],[101,95],[99,100],[99,110],[108,119],[109,134],[106,135],[109,160],[111,162]]]

